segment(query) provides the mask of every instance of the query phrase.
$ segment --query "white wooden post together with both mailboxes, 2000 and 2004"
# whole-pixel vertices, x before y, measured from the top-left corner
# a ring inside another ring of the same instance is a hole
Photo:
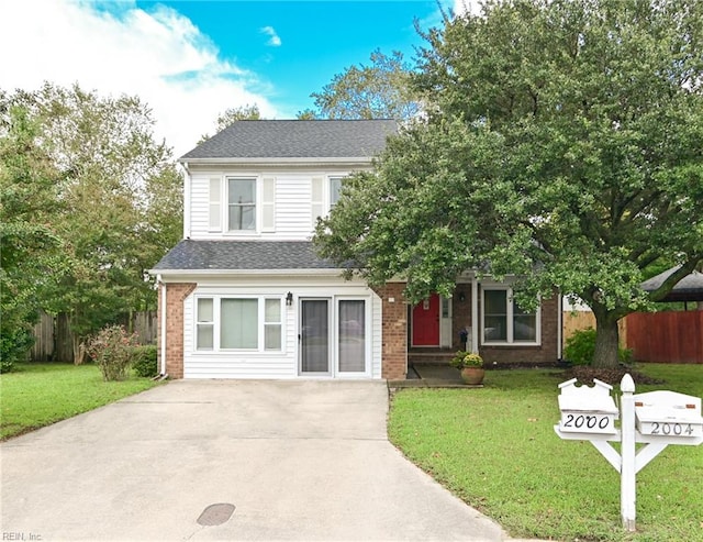
[[[635,395],[632,376],[620,384],[621,428],[615,428],[617,408],[609,384],[594,379],[594,386],[576,386],[576,378],[559,385],[561,420],[554,427],[563,440],[585,440],[621,475],[623,527],[635,530],[635,478],[637,473],[669,444],[703,443],[701,399],[674,391]],[[621,453],[611,445],[621,443]],[[644,444],[636,452],[636,444]]]

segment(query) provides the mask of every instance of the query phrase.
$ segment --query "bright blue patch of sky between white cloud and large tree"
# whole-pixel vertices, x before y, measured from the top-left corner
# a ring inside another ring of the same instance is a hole
[[[146,10],[156,2],[137,2]],[[159,2],[189,18],[223,58],[261,77],[261,91],[289,117],[313,107],[310,95],[370,53],[413,56],[414,29],[438,22],[431,1]]]

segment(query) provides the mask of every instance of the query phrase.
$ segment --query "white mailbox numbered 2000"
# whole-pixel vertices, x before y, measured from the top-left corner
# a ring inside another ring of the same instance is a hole
[[[593,386],[577,386],[572,378],[559,384],[559,431],[563,433],[615,434],[617,407],[611,397],[613,386],[593,379]]]

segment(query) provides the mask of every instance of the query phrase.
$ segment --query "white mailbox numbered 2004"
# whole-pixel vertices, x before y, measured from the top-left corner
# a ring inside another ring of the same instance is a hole
[[[699,397],[676,391],[649,391],[636,395],[634,399],[635,422],[640,434],[678,442],[703,438]]]

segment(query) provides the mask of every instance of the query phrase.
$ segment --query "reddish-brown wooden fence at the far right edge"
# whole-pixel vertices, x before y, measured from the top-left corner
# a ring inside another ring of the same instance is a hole
[[[626,320],[633,360],[703,363],[703,311],[634,312]]]

